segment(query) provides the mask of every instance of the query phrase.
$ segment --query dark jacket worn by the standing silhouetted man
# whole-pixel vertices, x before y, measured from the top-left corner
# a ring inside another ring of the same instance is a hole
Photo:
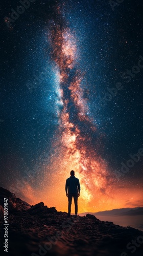
[[[68,188],[68,194],[78,194],[80,192],[80,182],[79,179],[75,176],[70,176],[65,183],[65,191],[67,193]]]

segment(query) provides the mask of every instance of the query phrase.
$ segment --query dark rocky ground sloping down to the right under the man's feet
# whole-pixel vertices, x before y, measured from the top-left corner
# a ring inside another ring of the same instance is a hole
[[[4,197],[8,198],[8,253],[4,252]],[[87,214],[66,212],[40,202],[30,206],[0,188],[1,255],[142,256],[143,232],[121,227]],[[128,248],[127,248],[128,245]]]

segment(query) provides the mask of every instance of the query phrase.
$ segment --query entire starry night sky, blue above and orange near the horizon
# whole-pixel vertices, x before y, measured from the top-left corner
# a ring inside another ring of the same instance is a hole
[[[25,5],[1,3],[0,185],[67,211],[74,169],[79,212],[143,206],[142,1]]]

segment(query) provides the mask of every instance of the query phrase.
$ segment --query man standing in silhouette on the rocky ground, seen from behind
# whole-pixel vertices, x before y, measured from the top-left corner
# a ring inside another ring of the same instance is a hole
[[[68,189],[68,193],[67,193]],[[75,177],[74,170],[71,170],[70,177],[66,180],[65,183],[65,192],[68,197],[68,217],[70,217],[71,211],[71,202],[74,197],[75,202],[75,215],[78,215],[78,197],[80,196],[80,182],[79,179]]]

